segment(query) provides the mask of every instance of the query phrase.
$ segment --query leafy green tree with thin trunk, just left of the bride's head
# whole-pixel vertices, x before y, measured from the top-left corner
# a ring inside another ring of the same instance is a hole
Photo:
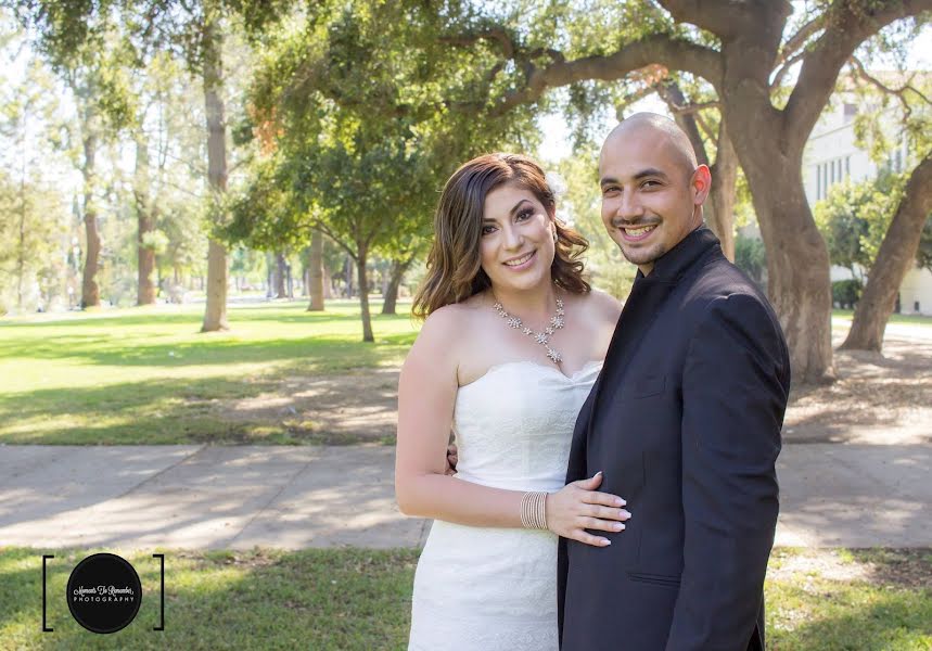
[[[252,130],[267,156],[228,232],[265,248],[306,244],[312,228],[327,233],[359,270],[365,341],[373,341],[369,257],[404,263],[422,253],[447,176],[497,145],[529,145],[535,133],[520,113],[477,118],[475,88],[488,75],[437,41],[437,21],[413,3],[321,5],[270,43],[251,92]]]

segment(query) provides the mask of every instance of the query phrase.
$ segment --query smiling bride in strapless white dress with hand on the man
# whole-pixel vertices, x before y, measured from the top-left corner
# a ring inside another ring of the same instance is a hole
[[[576,414],[621,306],[583,280],[587,242],[557,220],[525,156],[460,167],[434,228],[413,307],[425,320],[398,387],[398,506],[435,520],[409,649],[556,650],[557,537],[598,553],[630,516],[597,490],[599,473],[564,486]]]

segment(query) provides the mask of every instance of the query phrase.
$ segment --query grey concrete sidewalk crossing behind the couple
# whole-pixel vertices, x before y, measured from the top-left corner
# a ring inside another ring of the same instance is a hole
[[[393,463],[382,446],[0,446],[0,546],[422,545]],[[928,445],[787,445],[778,469],[777,545],[932,547]]]

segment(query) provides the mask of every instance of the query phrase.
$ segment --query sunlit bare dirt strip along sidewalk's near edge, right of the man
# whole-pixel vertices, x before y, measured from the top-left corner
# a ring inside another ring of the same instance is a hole
[[[775,549],[767,578],[804,577],[932,589],[932,549]]]

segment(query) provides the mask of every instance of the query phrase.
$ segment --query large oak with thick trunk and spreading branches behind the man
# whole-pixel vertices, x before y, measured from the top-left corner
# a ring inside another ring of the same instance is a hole
[[[493,43],[510,62],[497,71],[508,78],[490,98],[491,115],[539,102],[549,89],[620,80],[652,64],[711,84],[752,193],[767,248],[768,292],[790,344],[794,378],[831,379],[829,257],[803,189],[803,149],[855,50],[891,23],[932,10],[932,0],[818,2],[795,29],[792,5],[783,0],[656,4],[663,11],[630,3],[626,11],[640,12],[636,20],[648,28],[634,39],[590,39],[590,53],[573,46],[565,30],[551,29],[551,42],[541,46],[547,37],[539,28],[518,29],[475,11],[451,21],[446,40],[465,48]],[[618,25],[623,34],[624,23]],[[788,86],[786,71],[796,64],[799,75]]]

